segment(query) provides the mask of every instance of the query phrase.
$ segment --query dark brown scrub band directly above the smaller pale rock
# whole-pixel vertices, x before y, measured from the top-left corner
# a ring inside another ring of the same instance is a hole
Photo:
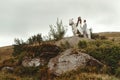
[[[44,57],[44,58],[52,58],[61,51],[61,48],[56,46],[53,43],[49,42],[42,42],[40,45],[14,45],[14,52],[13,55],[17,57],[19,64],[21,64],[21,61],[23,57]]]

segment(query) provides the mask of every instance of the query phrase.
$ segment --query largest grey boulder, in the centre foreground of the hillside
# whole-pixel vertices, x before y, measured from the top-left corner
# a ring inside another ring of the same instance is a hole
[[[102,63],[88,54],[74,52],[72,49],[62,52],[48,63],[49,70],[57,76],[67,71],[76,70],[78,67],[84,68],[87,65],[96,66],[102,65]]]

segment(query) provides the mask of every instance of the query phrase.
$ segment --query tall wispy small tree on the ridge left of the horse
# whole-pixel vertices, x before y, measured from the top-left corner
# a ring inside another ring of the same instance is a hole
[[[57,18],[56,26],[50,25],[49,34],[54,40],[60,40],[64,37],[67,29],[64,28],[62,20],[59,21]]]

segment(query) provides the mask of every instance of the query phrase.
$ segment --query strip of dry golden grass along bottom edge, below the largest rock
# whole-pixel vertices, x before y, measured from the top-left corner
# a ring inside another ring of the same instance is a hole
[[[120,80],[114,76],[96,73],[79,73],[71,76],[57,77],[54,80]]]

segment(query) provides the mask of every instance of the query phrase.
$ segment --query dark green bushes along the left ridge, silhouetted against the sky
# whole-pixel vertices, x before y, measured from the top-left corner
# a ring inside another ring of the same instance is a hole
[[[41,34],[37,34],[34,36],[31,36],[28,38],[26,42],[24,42],[22,39],[14,39],[14,48],[13,48],[13,56],[18,56],[20,55],[23,51],[28,50],[28,46],[33,46],[33,45],[40,45],[41,42],[43,41]]]

